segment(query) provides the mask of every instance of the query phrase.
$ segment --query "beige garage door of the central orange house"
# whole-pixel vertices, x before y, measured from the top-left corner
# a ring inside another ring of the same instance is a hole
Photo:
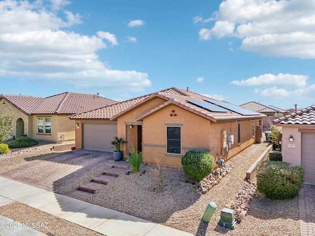
[[[110,144],[117,136],[117,122],[83,123],[83,148],[89,150],[114,151]]]

